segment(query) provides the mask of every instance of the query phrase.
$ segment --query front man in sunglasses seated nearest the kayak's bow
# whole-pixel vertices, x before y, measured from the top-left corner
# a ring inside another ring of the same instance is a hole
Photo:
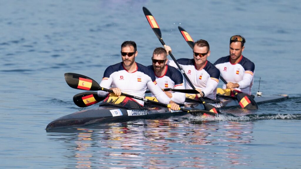
[[[148,88],[159,102],[171,104],[172,110],[178,110],[179,105],[172,101],[157,85],[154,72],[148,67],[135,62],[137,55],[136,43],[134,41],[124,41],[121,45],[122,62],[107,67],[100,86],[110,88],[117,97],[120,97],[121,92],[137,97],[144,97],[145,91]],[[108,94],[108,92],[98,91],[98,96],[100,97],[107,96]],[[140,107],[144,106],[142,100],[124,98],[118,101],[117,99],[112,99],[108,96],[104,102],[126,105],[131,100],[131,102],[137,103],[136,105]]]

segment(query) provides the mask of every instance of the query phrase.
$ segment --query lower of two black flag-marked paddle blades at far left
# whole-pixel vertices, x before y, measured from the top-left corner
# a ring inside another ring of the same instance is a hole
[[[99,97],[97,92],[83,92],[73,96],[73,102],[76,106],[87,107],[104,100],[105,97]]]

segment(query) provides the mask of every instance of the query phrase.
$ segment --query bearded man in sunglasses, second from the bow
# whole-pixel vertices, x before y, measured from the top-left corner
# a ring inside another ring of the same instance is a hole
[[[181,72],[167,65],[167,53],[164,48],[156,48],[154,50],[152,62],[153,65],[148,67],[154,71],[160,88],[185,89]],[[165,94],[176,103],[185,102],[185,93],[165,91]]]

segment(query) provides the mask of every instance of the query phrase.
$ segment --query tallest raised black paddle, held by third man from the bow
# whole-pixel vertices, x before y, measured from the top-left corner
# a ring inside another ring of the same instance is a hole
[[[163,46],[165,46],[165,43],[164,43],[164,41],[163,41],[163,39],[161,37],[162,36],[161,35],[161,30],[159,28],[159,25],[158,25],[157,21],[155,20],[155,18],[153,17],[153,15],[151,14],[151,12],[147,8],[143,7],[142,9],[143,9],[144,15],[145,15],[148,23],[151,25],[151,28],[155,32],[157,38],[159,39],[159,41],[161,42],[161,44]],[[187,80],[187,82],[190,84],[191,88],[193,90],[195,90],[194,85],[191,83],[191,81],[189,80],[189,78],[185,74],[185,71],[180,67],[180,65],[178,64],[177,60],[172,55],[171,51],[169,51],[168,53],[169,53],[170,57],[172,58],[172,60],[177,65],[178,69],[182,72],[182,74],[185,77],[185,79]],[[199,92],[197,92],[197,93],[199,94]],[[204,105],[205,110],[210,111],[210,112],[220,113],[220,111],[218,109],[216,109],[216,107],[214,107],[214,106],[212,106],[210,104],[207,104],[202,97],[199,97],[199,100]]]

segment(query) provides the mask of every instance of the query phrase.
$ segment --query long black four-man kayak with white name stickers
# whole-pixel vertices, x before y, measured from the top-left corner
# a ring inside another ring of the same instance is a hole
[[[220,100],[219,103],[209,103],[216,107],[221,108],[232,108],[240,107],[237,100],[232,97],[221,97],[217,96]],[[271,96],[261,96],[254,97],[257,104],[271,103],[287,100],[287,95],[271,95]],[[79,127],[92,124],[100,123],[112,123],[112,122],[122,122],[135,119],[151,119],[151,118],[162,118],[167,116],[185,115],[187,112],[182,111],[169,111],[166,107],[154,106],[146,103],[148,109],[125,109],[116,106],[100,106],[92,109],[86,109],[79,112],[72,113],[70,115],[65,115],[63,117],[57,118],[56,120],[50,122],[46,130],[54,128],[66,128],[66,127]],[[203,104],[185,103],[182,108],[188,110],[194,109],[204,109]]]

